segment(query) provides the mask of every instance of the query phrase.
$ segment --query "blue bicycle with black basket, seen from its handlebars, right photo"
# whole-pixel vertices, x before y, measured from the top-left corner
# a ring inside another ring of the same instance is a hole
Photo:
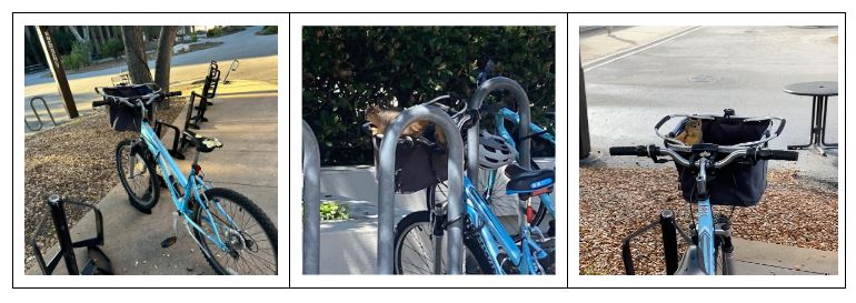
[[[660,127],[673,118],[681,118],[675,130],[660,133]],[[776,121],[778,128],[774,131]],[[660,156],[670,158],[678,169],[684,199],[697,204],[696,219],[689,224],[688,233],[674,223],[674,212],[667,210],[665,213],[668,214],[663,215],[660,222],[653,222],[628,235],[621,248],[625,272],[635,274],[630,240],[660,225],[666,274],[734,274],[730,214],[714,213],[713,205],[730,206],[731,214],[737,206],[756,205],[767,185],[767,161],[797,161],[797,152],[767,149],[767,142],[778,137],[784,128],[784,119],[741,118],[731,109],[726,109],[724,115],[671,114],[655,127],[665,147],[609,148],[610,155],[646,156],[655,163],[668,161]],[[688,132],[700,140],[679,140]],[[688,244],[679,262],[676,234]]]

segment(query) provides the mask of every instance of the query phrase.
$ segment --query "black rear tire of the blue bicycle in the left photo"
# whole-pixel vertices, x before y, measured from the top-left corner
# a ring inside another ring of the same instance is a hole
[[[237,206],[239,208],[238,209],[239,211],[246,211],[246,213],[249,214],[250,219],[256,221],[257,225],[261,229],[261,232],[263,233],[263,236],[267,236],[268,245],[270,246],[270,250],[272,251],[272,254],[268,254],[267,259],[272,259],[272,260],[255,259],[255,260],[260,260],[262,262],[266,262],[267,264],[266,263],[261,263],[261,265],[265,266],[262,269],[262,267],[258,266],[259,263],[251,263],[251,264],[247,265],[247,269],[252,270],[251,266],[256,266],[256,269],[262,270],[262,273],[252,273],[252,274],[273,274],[273,275],[276,275],[277,274],[277,265],[278,265],[278,262],[277,262],[277,260],[278,260],[278,255],[277,255],[277,248],[278,248],[278,244],[277,244],[277,228],[276,228],[276,225],[273,225],[273,222],[270,221],[268,215],[265,214],[265,212],[258,205],[252,203],[252,201],[250,201],[247,196],[245,196],[245,195],[242,195],[242,194],[240,194],[240,193],[238,193],[236,191],[229,190],[229,189],[221,189],[221,188],[209,189],[209,190],[207,190],[205,192],[205,196],[209,201],[215,201],[216,199],[227,199],[227,200],[233,202],[235,204],[237,204]],[[209,208],[209,210],[211,211],[212,214],[217,214],[216,210],[211,208],[212,205],[207,205],[207,206]],[[222,205],[222,209],[223,210],[233,210],[233,206],[228,206],[227,208],[226,205]],[[199,224],[199,226],[205,228],[205,225],[208,225],[210,222],[208,222],[208,220],[202,218],[202,214],[205,212],[202,212],[201,210],[202,209],[201,209],[201,204],[200,203],[193,203],[193,221],[197,224]],[[236,215],[231,215],[230,214],[230,216],[232,218],[233,222],[235,221],[242,221],[241,219],[237,218]],[[220,218],[218,218],[218,219],[220,219]],[[222,219],[220,219],[220,220],[225,221]],[[223,223],[226,223],[226,222],[223,222]],[[225,232],[226,229],[222,229],[222,225],[220,225],[220,224],[218,224],[218,225],[220,228],[220,229],[218,229],[218,231],[219,232]],[[235,226],[231,226],[231,228],[233,229]],[[229,241],[230,243],[232,242],[232,241],[230,241],[231,239],[241,240],[241,243],[238,243],[238,244],[242,245],[242,248],[240,248],[240,250],[236,250],[233,252],[230,252],[229,253],[230,255],[225,255],[226,262],[220,262],[217,257],[219,256],[219,253],[223,253],[223,251],[220,250],[217,246],[213,246],[215,250],[211,250],[211,248],[209,248],[207,245],[209,243],[209,241],[206,238],[206,235],[202,232],[200,232],[199,230],[193,229],[193,236],[199,241],[199,249],[202,251],[202,255],[205,256],[206,261],[208,261],[208,264],[211,265],[211,267],[215,270],[215,272],[217,274],[243,274],[240,271],[238,271],[238,270],[241,270],[241,269],[231,269],[231,267],[229,267],[228,266],[229,265],[228,261],[230,259],[238,259],[238,257],[241,257],[241,256],[251,256],[251,255],[253,255],[253,254],[251,254],[251,252],[252,252],[252,248],[251,246],[256,245],[256,248],[258,249],[259,243],[262,243],[262,241],[259,241],[258,238],[253,238],[253,235],[258,235],[258,232],[256,232],[256,233],[246,233],[246,231],[242,230],[242,228],[238,228],[238,230],[239,230],[239,233],[240,233],[240,238],[229,238],[230,235],[225,235],[225,239],[227,239],[227,241]],[[249,236],[249,239],[247,239],[247,236]],[[250,253],[247,253],[247,252],[250,252]],[[261,257],[261,256],[259,256],[259,257]],[[249,260],[249,257],[246,257],[246,260]],[[237,263],[237,261],[236,261],[236,263]],[[265,273],[266,271],[269,271],[269,272]]]

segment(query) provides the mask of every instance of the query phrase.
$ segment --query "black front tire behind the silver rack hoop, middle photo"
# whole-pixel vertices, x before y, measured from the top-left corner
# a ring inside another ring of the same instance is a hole
[[[412,212],[408,215],[406,215],[401,221],[396,224],[396,246],[395,246],[395,253],[394,253],[394,273],[395,274],[408,274],[408,273],[417,273],[417,274],[432,274],[434,273],[434,241],[432,241],[432,233],[431,233],[431,218],[430,218],[429,211],[417,211]],[[464,246],[466,249],[465,252],[465,273],[466,274],[495,274],[497,271],[494,269],[492,263],[490,262],[490,256],[487,255],[485,250],[485,244],[481,241],[481,238],[478,236],[478,233],[471,232],[474,231],[474,226],[471,226],[470,221],[468,219],[465,220],[465,234],[469,233],[470,236],[464,238]],[[406,271],[404,269],[402,264],[402,253],[404,248],[407,243],[411,243],[406,241],[408,236],[410,235],[410,232],[417,231],[422,232],[426,235],[426,239],[428,241],[422,241],[421,243],[417,244],[424,244],[421,246],[427,246],[427,249],[424,249],[422,251],[425,253],[421,253],[420,255],[424,256],[425,261],[425,267],[422,271],[415,272],[415,271]],[[430,261],[430,263],[429,263]],[[475,261],[475,264],[472,264],[469,261]],[[442,262],[442,261],[441,261]],[[476,266],[470,266],[470,264]],[[446,266],[442,264],[442,269],[445,270]]]

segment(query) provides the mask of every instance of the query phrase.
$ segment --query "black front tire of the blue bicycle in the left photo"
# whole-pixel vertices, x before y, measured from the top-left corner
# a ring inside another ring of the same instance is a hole
[[[119,181],[122,183],[122,188],[125,188],[125,192],[128,193],[128,200],[131,205],[140,212],[151,214],[151,209],[158,204],[160,199],[160,178],[157,174],[157,165],[151,152],[145,145],[137,142],[137,140],[126,139],[116,144],[116,172]],[[126,151],[128,152],[128,160],[125,159]],[[148,176],[143,175],[143,173],[138,176],[131,176],[135,181],[138,180],[137,178],[141,178],[139,180],[148,179],[149,183],[142,189],[142,193],[135,192],[135,189],[128,182],[129,178],[126,178],[125,164],[130,161],[131,156],[137,158],[137,161],[141,161],[141,163],[138,162],[135,169],[148,172]]]

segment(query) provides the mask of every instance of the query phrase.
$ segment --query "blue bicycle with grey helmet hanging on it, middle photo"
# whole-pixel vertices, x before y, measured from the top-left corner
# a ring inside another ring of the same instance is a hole
[[[448,99],[440,97],[427,102],[449,111],[449,108],[437,101]],[[480,110],[485,117],[489,109]],[[468,129],[468,121],[477,118],[466,114],[466,110],[452,115],[459,129]],[[402,141],[435,144],[421,139],[404,139]],[[505,194],[517,198],[518,228],[517,234],[511,234],[500,219],[491,210],[482,193],[472,184],[469,178],[464,178],[466,214],[464,244],[466,246],[465,272],[469,274],[550,274],[555,273],[555,254],[548,252],[553,248],[543,248],[547,236],[534,225],[530,220],[520,218],[531,208],[530,198],[547,196],[553,190],[555,172],[553,170],[527,170],[514,162],[517,153],[512,145],[501,137],[482,132],[479,135],[479,166],[486,170],[504,168],[508,179]],[[437,162],[437,161],[436,161]],[[441,162],[441,161],[439,161]],[[426,190],[428,210],[408,214],[396,225],[396,244],[394,271],[397,274],[441,274],[444,261],[435,260],[435,255],[445,244],[444,231],[449,224],[446,216],[445,184],[439,183]],[[544,203],[543,203],[544,204]]]

